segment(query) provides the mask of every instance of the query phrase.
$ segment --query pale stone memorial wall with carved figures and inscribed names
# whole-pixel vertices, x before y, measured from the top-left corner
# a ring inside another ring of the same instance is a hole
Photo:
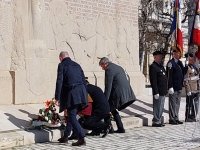
[[[126,70],[135,94],[142,94],[138,5],[139,0],[0,0],[0,104],[54,97],[63,50],[102,89],[98,62],[108,57]]]

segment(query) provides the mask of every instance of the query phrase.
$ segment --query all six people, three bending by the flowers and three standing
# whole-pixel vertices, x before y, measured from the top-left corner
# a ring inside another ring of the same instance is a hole
[[[153,53],[154,61],[149,67],[150,83],[153,93],[153,127],[165,126],[162,122],[165,97],[169,95],[169,124],[183,124],[179,120],[179,108],[182,88],[186,91],[185,121],[196,121],[199,106],[199,67],[195,64],[195,55],[187,55],[188,63],[184,66],[179,60],[180,52],[173,51],[173,58],[168,61],[166,70],[162,65],[160,51]],[[66,51],[59,55],[55,99],[59,112],[65,112],[67,125],[60,143],[77,139],[72,146],[86,145],[85,136],[109,133],[125,133],[119,115],[120,110],[131,105],[136,97],[127,79],[124,69],[103,57],[99,66],[105,71],[105,90],[92,85],[86,79],[81,66],[72,61]],[[79,119],[77,120],[77,115]],[[110,115],[113,116],[117,130],[114,131]],[[83,129],[92,130],[85,134]]]

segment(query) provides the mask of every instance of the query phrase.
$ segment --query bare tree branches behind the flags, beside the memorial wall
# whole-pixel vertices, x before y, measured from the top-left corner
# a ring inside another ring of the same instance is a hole
[[[194,16],[195,2],[192,3],[191,0],[181,2],[182,23],[186,21],[191,23],[188,18]],[[143,63],[146,64],[144,67],[148,67],[148,62],[144,61],[145,56],[155,50],[162,51],[164,58],[166,55],[171,56],[173,7],[174,0],[141,0],[138,18],[141,71],[143,71]]]

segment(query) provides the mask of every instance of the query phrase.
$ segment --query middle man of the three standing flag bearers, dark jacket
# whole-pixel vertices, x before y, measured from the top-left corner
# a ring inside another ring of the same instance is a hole
[[[169,124],[183,124],[179,121],[181,91],[183,87],[184,66],[179,60],[180,52],[174,50],[173,58],[167,63],[167,80],[169,93]]]

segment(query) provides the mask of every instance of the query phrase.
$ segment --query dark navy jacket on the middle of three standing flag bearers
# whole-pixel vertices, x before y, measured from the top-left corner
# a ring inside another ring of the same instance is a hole
[[[168,64],[171,63],[172,67],[169,68]],[[183,77],[184,77],[184,66],[183,63],[172,58],[167,63],[167,79],[168,79],[168,89],[173,88],[174,91],[182,90],[183,87]]]

